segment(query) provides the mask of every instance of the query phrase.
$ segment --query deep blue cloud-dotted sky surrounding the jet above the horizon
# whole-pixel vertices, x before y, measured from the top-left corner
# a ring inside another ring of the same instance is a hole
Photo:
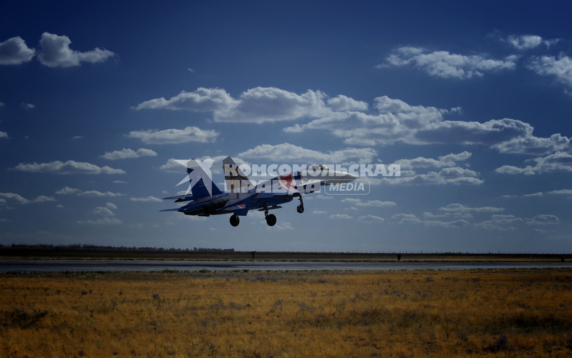
[[[0,244],[570,252],[561,6],[6,4]],[[171,159],[227,155],[404,175],[273,228],[158,212]]]

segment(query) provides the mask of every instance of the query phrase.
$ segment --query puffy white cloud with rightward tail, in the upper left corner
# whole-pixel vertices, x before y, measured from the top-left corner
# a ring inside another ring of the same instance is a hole
[[[96,47],[92,51],[80,52],[70,49],[70,41],[67,36],[58,36],[43,33],[39,41],[41,50],[38,51],[38,60],[47,67],[71,67],[79,66],[81,62],[104,62],[114,57],[112,51]]]

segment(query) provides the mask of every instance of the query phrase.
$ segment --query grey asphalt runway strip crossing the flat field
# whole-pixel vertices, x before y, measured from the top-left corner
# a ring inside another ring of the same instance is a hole
[[[182,260],[0,260],[0,272],[94,271],[285,271],[285,270],[468,270],[572,268],[572,262],[435,261],[182,261]]]

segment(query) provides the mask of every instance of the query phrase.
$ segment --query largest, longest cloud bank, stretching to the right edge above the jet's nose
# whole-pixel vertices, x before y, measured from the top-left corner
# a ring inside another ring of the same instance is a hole
[[[411,106],[387,96],[374,99],[378,113],[332,112],[307,124],[286,128],[287,132],[307,129],[327,130],[334,137],[343,138],[349,145],[406,144],[463,144],[486,145],[501,153],[545,154],[555,150],[572,149],[570,138],[553,134],[548,138],[533,136],[533,126],[505,118],[484,123],[445,121],[446,114],[456,109]],[[444,156],[447,157],[447,156]],[[451,157],[443,161],[455,161]],[[423,158],[420,160],[423,162]],[[430,164],[425,161],[424,164]]]

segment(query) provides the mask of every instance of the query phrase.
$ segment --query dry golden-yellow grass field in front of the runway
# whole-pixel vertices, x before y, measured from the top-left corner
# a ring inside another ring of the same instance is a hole
[[[572,271],[0,275],[5,357],[564,357]]]

